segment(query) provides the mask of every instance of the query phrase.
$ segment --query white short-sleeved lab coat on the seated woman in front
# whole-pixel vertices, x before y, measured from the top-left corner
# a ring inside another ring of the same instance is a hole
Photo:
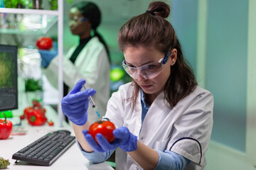
[[[119,87],[107,104],[105,118],[118,127],[129,128],[145,145],[164,152],[171,150],[191,160],[186,169],[204,169],[206,150],[213,128],[213,96],[197,86],[195,91],[170,109],[164,105],[164,92],[151,104],[142,124],[141,95],[132,108],[131,83]],[[132,157],[117,149],[117,169],[142,169]]]

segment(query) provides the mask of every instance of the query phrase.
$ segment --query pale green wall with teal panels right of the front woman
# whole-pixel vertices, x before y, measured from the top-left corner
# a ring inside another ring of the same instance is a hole
[[[172,0],[172,5],[183,50],[201,71],[196,75],[205,74],[197,78],[215,98],[206,169],[256,169],[255,1]]]

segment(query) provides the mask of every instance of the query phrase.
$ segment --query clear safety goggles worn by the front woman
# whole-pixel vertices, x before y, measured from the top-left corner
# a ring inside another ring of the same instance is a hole
[[[138,79],[139,76],[144,79],[153,79],[164,69],[164,65],[168,61],[169,55],[171,55],[171,52],[169,52],[164,58],[161,58],[158,62],[151,62],[142,67],[131,67],[127,65],[124,60],[122,62],[122,67],[124,67],[125,72],[127,72],[127,74],[129,74],[133,79]]]

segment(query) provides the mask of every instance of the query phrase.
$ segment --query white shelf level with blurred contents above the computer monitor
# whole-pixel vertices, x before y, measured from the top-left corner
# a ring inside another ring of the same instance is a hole
[[[0,15],[0,33],[7,34],[45,35],[58,21],[58,11],[41,9],[1,8]]]

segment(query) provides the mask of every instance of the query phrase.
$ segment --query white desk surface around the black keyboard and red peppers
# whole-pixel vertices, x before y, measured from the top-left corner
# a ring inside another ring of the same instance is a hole
[[[4,157],[4,159],[9,159],[11,163],[8,166],[9,169],[55,169],[55,170],[70,170],[70,169],[92,169],[92,170],[102,170],[102,169],[112,169],[112,167],[107,164],[107,162],[103,162],[101,164],[92,164],[90,163],[80,152],[76,143],[74,143],[68,150],[66,150],[58,159],[53,162],[50,166],[39,166],[36,164],[29,164],[27,162],[18,162],[16,164],[16,160],[12,159],[12,155],[18,150],[26,147],[31,142],[37,140],[38,138],[46,135],[48,132],[52,132],[55,130],[70,130],[71,135],[75,135],[73,132],[73,128],[68,125],[68,123],[63,122],[63,128],[59,127],[58,123],[58,115],[53,111],[53,108],[45,106],[47,112],[46,116],[49,119],[53,120],[55,125],[49,126],[47,123],[43,126],[31,126],[28,125],[28,120],[22,120],[21,127],[24,127],[27,130],[26,135],[10,135],[7,140],[0,140],[0,157]],[[16,114],[16,113],[15,113]]]

